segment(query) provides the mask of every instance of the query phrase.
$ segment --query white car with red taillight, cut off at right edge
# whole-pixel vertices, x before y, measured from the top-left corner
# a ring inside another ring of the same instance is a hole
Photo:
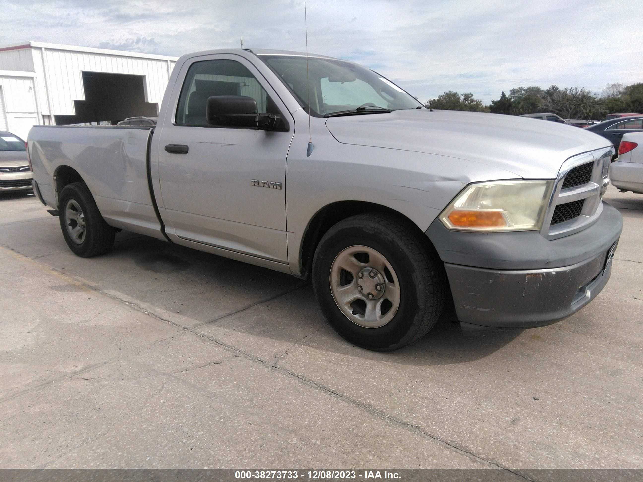
[[[610,165],[610,179],[620,192],[643,194],[643,132],[624,134],[619,157]]]

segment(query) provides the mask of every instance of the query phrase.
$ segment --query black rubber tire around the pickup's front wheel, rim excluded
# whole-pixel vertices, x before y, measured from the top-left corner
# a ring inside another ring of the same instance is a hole
[[[332,295],[332,263],[354,245],[381,253],[399,279],[397,312],[379,328],[351,321]],[[313,258],[312,285],[321,311],[341,337],[368,350],[389,352],[419,340],[433,328],[444,308],[447,280],[437,252],[415,226],[401,217],[372,213],[340,221],[325,233]]]

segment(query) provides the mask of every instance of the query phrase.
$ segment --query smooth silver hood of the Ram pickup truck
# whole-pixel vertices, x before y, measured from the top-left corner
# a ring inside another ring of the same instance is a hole
[[[331,117],[326,126],[341,143],[457,157],[526,179],[552,179],[569,157],[611,145],[578,127],[484,112],[411,109]]]

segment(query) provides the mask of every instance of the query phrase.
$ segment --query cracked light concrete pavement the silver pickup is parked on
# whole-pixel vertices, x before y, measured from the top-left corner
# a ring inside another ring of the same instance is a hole
[[[302,281],[131,233],[78,258],[0,193],[0,468],[641,468],[643,196],[606,199],[624,232],[581,312],[373,353]]]

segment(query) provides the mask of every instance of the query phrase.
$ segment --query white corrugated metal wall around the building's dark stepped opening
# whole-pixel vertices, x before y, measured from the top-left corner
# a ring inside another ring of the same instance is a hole
[[[167,60],[68,50],[44,49],[44,55],[51,110],[57,115],[75,114],[73,101],[85,100],[82,71],[144,75],[145,102],[160,105],[169,80],[168,64],[170,69],[174,67],[174,62]]]

